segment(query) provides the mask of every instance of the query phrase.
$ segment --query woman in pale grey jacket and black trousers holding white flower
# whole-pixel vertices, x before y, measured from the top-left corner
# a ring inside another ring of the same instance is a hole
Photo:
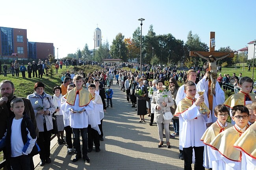
[[[55,112],[56,107],[52,103],[52,96],[44,92],[45,85],[42,82],[35,83],[35,92],[28,95],[32,107],[35,113],[35,119],[37,121],[37,127],[39,130],[39,138],[37,138],[37,144],[40,151],[40,166],[45,163],[50,163],[50,138],[52,135],[52,113]]]

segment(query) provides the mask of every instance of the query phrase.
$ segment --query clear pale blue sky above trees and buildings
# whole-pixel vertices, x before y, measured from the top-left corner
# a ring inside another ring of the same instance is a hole
[[[171,33],[186,42],[191,30],[209,46],[215,31],[215,50],[239,50],[256,39],[256,0],[4,0],[0,5],[0,26],[26,29],[28,41],[54,43],[59,58],[86,43],[93,49],[97,24],[102,42],[111,45],[118,33],[132,38],[139,18],[145,19],[143,35],[152,24],[156,35]]]

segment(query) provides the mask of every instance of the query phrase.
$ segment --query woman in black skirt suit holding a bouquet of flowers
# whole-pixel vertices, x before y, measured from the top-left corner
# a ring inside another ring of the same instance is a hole
[[[147,115],[147,97],[148,89],[143,85],[143,79],[138,80],[139,85],[135,87],[135,96],[137,97],[137,115],[140,116],[139,122],[145,122],[144,116]],[[141,90],[143,94],[139,95],[136,91]]]

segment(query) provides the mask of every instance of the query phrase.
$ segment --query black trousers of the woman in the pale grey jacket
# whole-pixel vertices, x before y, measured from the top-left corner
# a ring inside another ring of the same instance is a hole
[[[50,157],[50,144],[51,144],[51,136],[52,130],[47,131],[46,125],[44,124],[43,132],[39,132],[39,138],[37,139],[37,144],[40,148],[40,159],[45,160]]]

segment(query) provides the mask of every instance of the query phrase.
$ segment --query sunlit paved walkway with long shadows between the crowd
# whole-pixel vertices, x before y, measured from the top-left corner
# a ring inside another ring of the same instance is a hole
[[[158,129],[156,124],[149,126],[150,117],[145,116],[146,123],[139,123],[139,116],[126,101],[126,94],[118,85],[111,87],[113,108],[108,108],[103,120],[104,141],[100,141],[100,152],[88,153],[90,163],[80,159],[72,163],[75,154],[67,155],[67,146],[58,145],[52,140],[52,163],[36,170],[182,170],[184,161],[178,157],[178,137],[170,139],[171,148],[164,145],[158,148]],[[171,133],[173,129],[171,129]],[[81,139],[82,141],[82,139]],[[39,163],[38,156],[34,159]]]

